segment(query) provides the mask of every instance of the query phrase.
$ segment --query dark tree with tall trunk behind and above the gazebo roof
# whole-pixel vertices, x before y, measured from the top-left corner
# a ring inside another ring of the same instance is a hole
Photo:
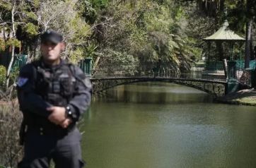
[[[183,0],[193,1],[193,0]],[[228,8],[228,17],[231,18],[231,28],[240,32],[246,32],[245,37],[245,68],[249,67],[250,59],[253,58],[253,20],[256,16],[256,1],[254,0],[197,0],[199,10],[204,11],[206,16],[223,18],[223,9]],[[218,14],[219,13],[219,14]],[[222,17],[221,17],[222,16]],[[233,22],[233,24],[232,24]],[[245,30],[244,30],[245,28]]]

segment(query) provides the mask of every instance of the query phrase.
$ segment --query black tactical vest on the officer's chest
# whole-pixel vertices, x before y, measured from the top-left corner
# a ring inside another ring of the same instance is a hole
[[[54,106],[66,107],[76,84],[70,66],[65,63],[54,68],[35,65],[35,92]]]

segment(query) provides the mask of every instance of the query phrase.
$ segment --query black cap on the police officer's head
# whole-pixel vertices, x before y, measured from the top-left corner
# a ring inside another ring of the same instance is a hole
[[[62,34],[54,30],[47,30],[44,33],[42,33],[40,37],[41,37],[41,43],[53,42],[55,44],[58,44],[63,40]]]

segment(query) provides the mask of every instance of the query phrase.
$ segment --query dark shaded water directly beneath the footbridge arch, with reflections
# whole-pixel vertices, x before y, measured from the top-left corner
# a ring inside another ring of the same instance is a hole
[[[212,97],[204,92],[170,83],[137,83],[136,85],[120,85],[107,90],[98,101],[182,104],[193,102],[211,102]]]

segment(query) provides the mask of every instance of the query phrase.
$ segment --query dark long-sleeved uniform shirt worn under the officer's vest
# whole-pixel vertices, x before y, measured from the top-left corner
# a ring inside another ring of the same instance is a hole
[[[23,112],[24,116],[32,116],[32,118],[40,119],[41,121],[45,121],[46,123],[50,123],[47,119],[50,115],[50,112],[47,111],[47,107],[57,106],[56,104],[52,104],[52,102],[48,101],[46,98],[49,92],[45,87],[40,86],[38,83],[41,81],[47,80],[42,79],[40,76],[39,69],[41,71],[50,70],[50,73],[54,73],[56,71],[63,71],[63,69],[70,69],[71,78],[75,80],[74,85],[72,85],[72,94],[68,100],[65,99],[65,102],[62,107],[69,107],[70,111],[74,114],[72,115],[72,120],[74,122],[78,121],[81,114],[86,112],[89,104],[91,102],[91,81],[86,78],[83,71],[77,66],[73,64],[67,64],[65,61],[61,61],[58,66],[55,67],[47,67],[42,61],[37,61],[31,64],[25,65],[21,68],[20,74],[18,76],[18,101],[20,103],[20,109]],[[50,78],[51,87],[54,81],[61,80],[59,78]],[[62,86],[62,81],[60,81]],[[39,91],[38,91],[39,90]],[[43,92],[39,93],[40,90]],[[62,100],[58,100],[62,101]],[[28,117],[29,118],[29,117]],[[35,123],[36,124],[36,123]],[[52,123],[51,123],[52,124]]]

